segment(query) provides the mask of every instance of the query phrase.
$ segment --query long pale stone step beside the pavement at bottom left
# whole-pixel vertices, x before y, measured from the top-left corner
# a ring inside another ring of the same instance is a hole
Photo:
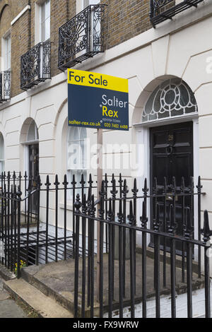
[[[4,289],[23,301],[42,318],[73,318],[73,314],[22,278],[7,280]]]

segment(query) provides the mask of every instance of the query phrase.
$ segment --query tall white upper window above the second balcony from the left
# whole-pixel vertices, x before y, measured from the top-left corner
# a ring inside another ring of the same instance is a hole
[[[40,6],[40,41],[45,42],[50,39],[50,0],[44,1]]]

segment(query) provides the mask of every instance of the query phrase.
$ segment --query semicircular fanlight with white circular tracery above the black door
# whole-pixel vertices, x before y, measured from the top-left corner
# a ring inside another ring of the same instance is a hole
[[[180,78],[160,84],[148,98],[143,122],[167,119],[198,112],[194,93]]]

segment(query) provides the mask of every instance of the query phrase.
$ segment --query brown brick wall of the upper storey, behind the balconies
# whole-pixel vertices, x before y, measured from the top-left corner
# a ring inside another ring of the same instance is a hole
[[[57,68],[58,30],[76,15],[76,1],[78,0],[51,0],[52,76],[61,72]],[[0,13],[5,4],[8,4],[0,20],[0,38],[11,29],[12,97],[23,92],[20,90],[20,56],[35,45],[35,2],[37,0],[0,0]],[[149,0],[101,0],[101,3],[108,5],[108,49],[151,28]],[[26,11],[11,26],[11,20],[28,4],[31,5],[31,11]]]

